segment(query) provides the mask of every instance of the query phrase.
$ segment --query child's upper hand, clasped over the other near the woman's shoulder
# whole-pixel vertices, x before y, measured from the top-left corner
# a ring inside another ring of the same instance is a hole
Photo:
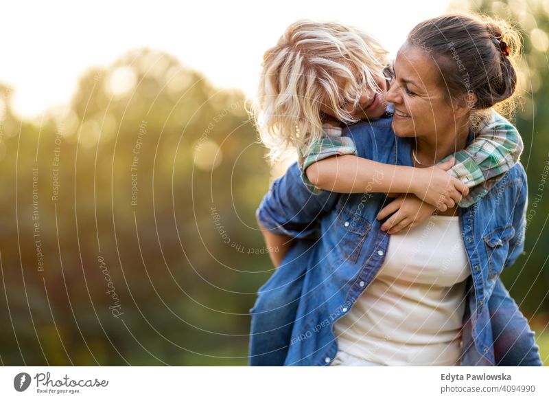
[[[453,208],[463,196],[469,194],[469,188],[462,181],[446,172],[453,166],[454,157],[443,164],[429,168],[416,168],[417,171],[414,171],[412,179],[414,195],[442,212]]]

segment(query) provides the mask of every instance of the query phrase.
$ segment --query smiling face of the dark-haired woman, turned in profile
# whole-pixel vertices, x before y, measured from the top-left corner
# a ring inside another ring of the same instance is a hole
[[[445,98],[439,70],[423,49],[404,44],[386,100],[395,104],[393,131],[399,137],[436,137],[455,131],[454,109]]]

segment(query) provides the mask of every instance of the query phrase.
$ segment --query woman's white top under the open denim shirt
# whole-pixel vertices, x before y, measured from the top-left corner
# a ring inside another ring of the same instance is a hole
[[[377,275],[334,326],[340,351],[389,366],[452,366],[471,274],[458,216],[390,237]]]

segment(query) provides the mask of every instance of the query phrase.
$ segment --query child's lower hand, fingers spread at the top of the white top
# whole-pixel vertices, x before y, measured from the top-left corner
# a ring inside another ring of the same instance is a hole
[[[393,214],[383,223],[382,230],[388,231],[389,234],[395,234],[401,230],[411,229],[419,225],[425,219],[428,219],[434,210],[436,208],[414,195],[400,195],[379,211],[377,219],[381,221]]]

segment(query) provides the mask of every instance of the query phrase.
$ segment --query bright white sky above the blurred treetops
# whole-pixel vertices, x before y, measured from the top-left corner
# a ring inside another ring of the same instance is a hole
[[[261,56],[296,19],[340,21],[371,32],[394,55],[419,21],[449,0],[392,1],[5,1],[0,5],[0,81],[14,111],[36,117],[69,101],[87,67],[153,47],[215,85],[255,93]]]

